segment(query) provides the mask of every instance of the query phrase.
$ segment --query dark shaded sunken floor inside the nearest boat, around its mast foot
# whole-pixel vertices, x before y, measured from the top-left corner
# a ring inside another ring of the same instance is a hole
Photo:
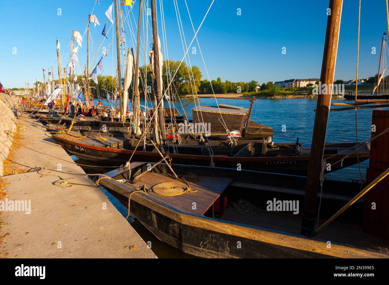
[[[228,207],[220,219],[298,235],[300,235],[301,231],[301,215],[285,212],[268,212],[267,214],[266,210],[263,210],[263,212],[245,216],[236,212],[233,207]],[[319,219],[319,226],[324,222],[325,220]],[[381,250],[386,253],[389,249],[389,240],[365,233],[358,225],[349,225],[341,222],[332,222],[316,237],[331,242],[342,242]]]

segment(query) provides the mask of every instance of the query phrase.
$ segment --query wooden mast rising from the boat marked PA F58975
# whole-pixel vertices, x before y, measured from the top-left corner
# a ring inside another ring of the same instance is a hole
[[[158,28],[157,28],[157,15],[155,9],[155,2],[151,0],[151,19],[152,19],[152,38],[153,38],[153,56],[154,56],[154,75],[155,75],[155,90],[154,94],[156,97],[156,111],[158,115],[159,130],[161,132],[162,140],[166,140],[165,133],[165,117],[163,115],[163,106],[162,105],[162,82],[161,77],[159,76],[159,43],[158,43]],[[158,108],[157,108],[158,107]]]

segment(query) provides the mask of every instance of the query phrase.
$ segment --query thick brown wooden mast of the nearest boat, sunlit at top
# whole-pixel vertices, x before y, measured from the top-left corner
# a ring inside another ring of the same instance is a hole
[[[338,38],[340,19],[342,16],[343,0],[330,0],[329,9],[331,14],[327,20],[326,40],[324,42],[323,61],[321,66],[321,84],[327,84],[326,94],[319,90],[317,97],[315,125],[312,136],[312,148],[309,158],[307,184],[305,187],[303,218],[301,223],[301,234],[311,235],[314,231],[315,211],[317,201],[317,190],[322,168],[324,144],[328,123],[329,106],[333,91],[334,72],[336,63],[336,52],[338,49]],[[325,86],[325,85],[324,85]]]

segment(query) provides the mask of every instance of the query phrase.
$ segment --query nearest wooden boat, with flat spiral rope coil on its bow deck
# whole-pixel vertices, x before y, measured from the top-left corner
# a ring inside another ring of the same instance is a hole
[[[363,200],[317,237],[300,235],[306,177],[171,165],[179,178],[186,177],[191,191],[197,192],[161,196],[154,192],[159,183],[183,182],[173,179],[165,164],[153,165],[151,171],[148,167],[147,163],[131,163],[130,177],[128,169],[116,169],[106,174],[112,179],[100,176],[98,183],[124,207],[130,198],[131,214],[159,240],[186,254],[209,258],[389,257],[388,240],[361,231]],[[135,177],[139,177],[137,181],[133,181]],[[121,179],[130,181],[119,182]],[[131,195],[142,186],[151,191]],[[324,181],[320,217],[330,217],[360,187],[356,182]],[[230,206],[224,210],[227,202],[242,198],[258,207],[247,213],[251,215],[242,215]],[[269,201],[274,200],[295,201],[296,205],[298,201],[299,214],[267,211]]]

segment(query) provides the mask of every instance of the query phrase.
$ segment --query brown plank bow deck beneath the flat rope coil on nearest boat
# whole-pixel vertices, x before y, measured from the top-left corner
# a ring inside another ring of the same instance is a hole
[[[232,178],[203,177],[202,181],[187,181],[192,191],[197,190],[195,193],[187,192],[179,196],[161,196],[151,191],[148,193],[148,198],[182,212],[203,215],[230,185],[232,180]],[[162,182],[177,182],[177,180],[166,174],[147,172],[135,184],[129,182],[126,184],[134,188],[145,184],[147,188],[152,189],[152,186]],[[196,209],[193,209],[193,202],[196,203]]]

